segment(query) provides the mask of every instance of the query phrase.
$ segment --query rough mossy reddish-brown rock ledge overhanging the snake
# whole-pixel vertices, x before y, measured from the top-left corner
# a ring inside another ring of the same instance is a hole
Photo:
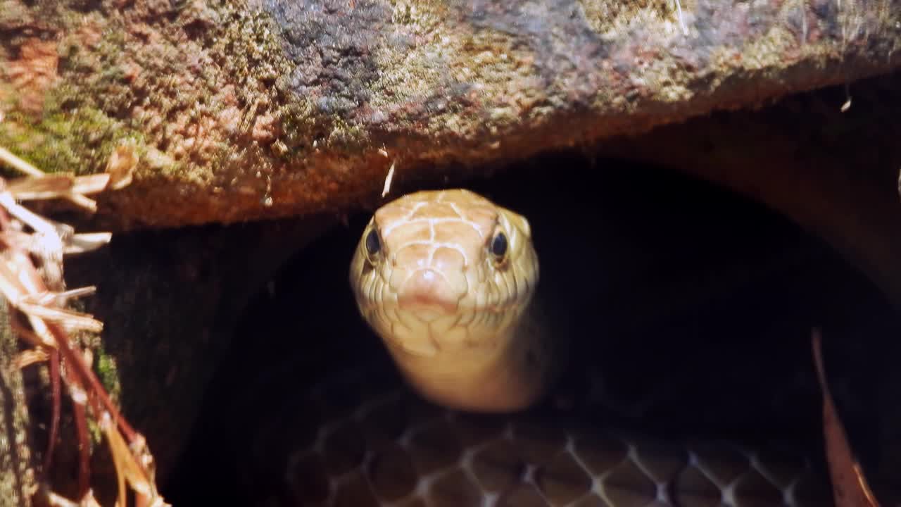
[[[393,163],[460,181],[901,59],[890,0],[682,5],[4,0],[0,143],[80,172],[134,143],[108,221],[233,222],[372,204]]]

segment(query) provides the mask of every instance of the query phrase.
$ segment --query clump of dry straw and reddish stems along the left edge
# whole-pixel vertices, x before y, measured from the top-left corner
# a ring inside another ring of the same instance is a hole
[[[0,163],[25,174],[15,180],[0,178],[0,294],[8,303],[13,330],[33,348],[16,358],[20,367],[49,364],[53,406],[50,441],[44,471],[50,468],[59,432],[62,387],[72,401],[78,447],[78,500],[72,502],[45,486],[39,494],[50,505],[98,505],[90,489],[88,414],[103,432],[113,455],[118,484],[118,507],[126,507],[126,484],[140,507],[168,506],[157,491],[153,456],[140,433],[132,429],[91,369],[86,353],[70,334],[100,333],[103,323],[90,315],[67,309],[68,300],[92,294],[94,287],[66,290],[62,275],[64,254],[84,253],[107,244],[109,233],[76,234],[71,226],[33,213],[20,201],[63,198],[87,212],[96,202],[87,195],[120,189],[131,182],[137,155],[120,146],[106,172],[89,176],[45,174],[0,147]],[[37,262],[35,262],[37,261]]]

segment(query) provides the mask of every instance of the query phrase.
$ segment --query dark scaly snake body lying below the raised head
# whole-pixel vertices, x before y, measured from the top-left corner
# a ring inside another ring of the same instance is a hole
[[[784,447],[675,444],[566,412],[450,410],[384,369],[337,373],[291,403],[300,419],[265,431],[294,437],[287,466],[275,468],[278,486],[258,490],[271,495],[259,505],[833,505],[822,471]],[[260,449],[259,462],[285,447]]]

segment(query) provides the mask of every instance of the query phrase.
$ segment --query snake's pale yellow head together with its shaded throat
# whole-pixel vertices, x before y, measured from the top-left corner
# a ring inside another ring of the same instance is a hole
[[[538,257],[529,222],[463,189],[380,207],[350,284],[359,311],[425,398],[464,410],[518,410],[559,370],[530,307]]]

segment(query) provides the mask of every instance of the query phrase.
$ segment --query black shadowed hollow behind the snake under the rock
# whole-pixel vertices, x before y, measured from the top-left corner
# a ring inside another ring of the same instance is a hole
[[[641,417],[610,420],[666,438],[792,440],[821,452],[816,326],[852,443],[871,462],[886,459],[879,396],[896,315],[860,272],[786,217],[673,171],[572,152],[465,187],[530,220],[540,290],[577,344],[570,367],[600,369],[626,405],[665,394]],[[251,301],[164,489],[170,502],[290,504],[262,490],[278,488],[291,429],[315,424],[292,412],[292,400],[339,368],[389,364],[348,285],[368,220],[350,217],[296,253]],[[255,491],[242,489],[258,452],[250,434],[275,449]]]

